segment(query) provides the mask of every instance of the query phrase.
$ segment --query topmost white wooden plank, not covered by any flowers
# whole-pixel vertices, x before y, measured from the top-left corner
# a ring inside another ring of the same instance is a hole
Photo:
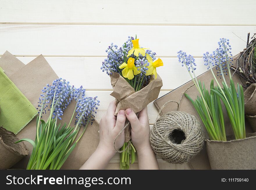
[[[254,0],[1,0],[0,22],[255,25],[255,5]]]

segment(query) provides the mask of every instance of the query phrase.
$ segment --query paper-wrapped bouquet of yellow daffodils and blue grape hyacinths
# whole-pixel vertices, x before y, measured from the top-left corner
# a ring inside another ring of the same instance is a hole
[[[139,45],[137,36],[135,39],[128,36],[127,41],[118,48],[111,45],[107,48],[108,57],[102,62],[102,71],[111,77],[113,92],[117,108],[115,115],[120,110],[131,108],[135,113],[139,113],[150,102],[157,99],[162,80],[157,74],[157,67],[163,66],[160,58],[156,59],[152,50],[142,48]],[[120,168],[129,169],[136,157],[131,142],[131,127],[127,121],[125,124],[125,144],[120,150]]]

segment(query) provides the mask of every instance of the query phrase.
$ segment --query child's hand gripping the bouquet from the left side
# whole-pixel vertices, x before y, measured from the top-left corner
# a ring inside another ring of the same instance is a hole
[[[116,109],[115,101],[110,102],[106,114],[99,122],[99,146],[98,148],[115,154],[113,146],[114,140],[118,133],[125,126],[125,111],[120,110],[117,116],[114,115]],[[125,130],[124,130],[125,131]],[[115,142],[115,147],[120,149],[125,142],[124,131],[120,134]]]

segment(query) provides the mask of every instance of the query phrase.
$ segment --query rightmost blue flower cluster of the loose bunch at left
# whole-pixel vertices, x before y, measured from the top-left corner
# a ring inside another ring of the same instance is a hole
[[[76,109],[76,121],[75,124],[79,122],[80,125],[85,126],[87,122],[93,124],[94,113],[97,113],[97,109],[99,106],[99,100],[97,100],[97,96],[93,97],[83,97],[78,99],[77,101],[77,109]]]

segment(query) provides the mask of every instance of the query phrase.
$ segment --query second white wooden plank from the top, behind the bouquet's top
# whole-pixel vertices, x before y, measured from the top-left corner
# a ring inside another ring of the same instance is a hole
[[[116,32],[115,32],[116,31]],[[122,31],[122,32],[118,32]],[[111,42],[122,45],[128,35],[159,57],[176,57],[180,49],[201,57],[218,47],[220,37],[230,39],[235,55],[246,46],[247,32],[255,26],[115,26],[115,25],[0,25],[0,52],[14,55],[103,56]],[[239,39],[236,35],[241,37]]]

